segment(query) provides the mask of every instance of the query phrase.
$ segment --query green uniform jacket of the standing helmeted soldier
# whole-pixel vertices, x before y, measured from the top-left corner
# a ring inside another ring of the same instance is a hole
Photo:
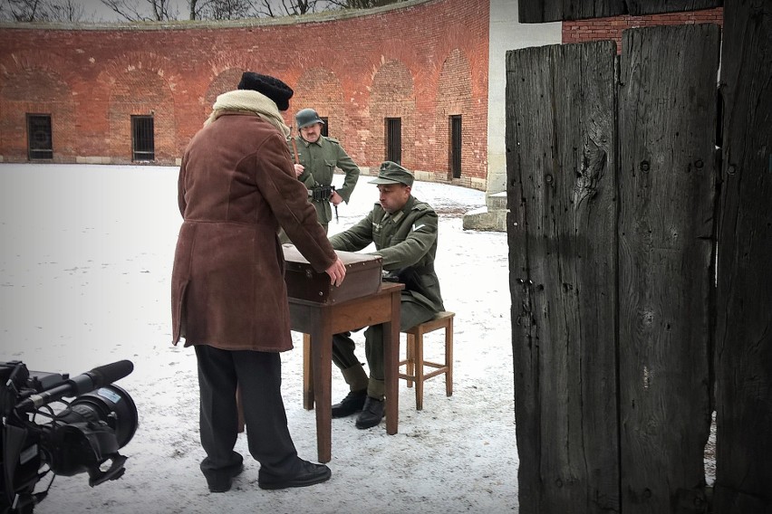
[[[337,139],[325,138],[320,136],[314,143],[309,143],[300,136],[295,136],[295,145],[297,145],[297,161],[295,161],[294,145],[292,138],[287,142],[292,154],[293,162],[298,162],[304,166],[303,173],[298,176],[298,180],[305,184],[308,190],[314,186],[331,186],[333,184],[333,175],[335,168],[343,170],[345,178],[343,187],[335,189],[338,195],[341,195],[343,201],[348,204],[352,195],[356,181],[359,179],[359,167],[341,146]],[[311,198],[309,198],[311,200]],[[320,224],[329,224],[333,219],[333,208],[330,202],[311,202],[316,207],[316,214]]]

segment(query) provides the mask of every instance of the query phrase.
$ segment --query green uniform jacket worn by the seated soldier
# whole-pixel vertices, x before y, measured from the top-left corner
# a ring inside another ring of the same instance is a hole
[[[375,243],[383,270],[405,284],[402,301],[413,300],[439,312],[445,310],[434,271],[437,254],[437,213],[429,204],[410,195],[395,214],[375,204],[370,214],[343,233],[330,238],[335,250],[358,252]],[[387,276],[387,280],[389,280]]]

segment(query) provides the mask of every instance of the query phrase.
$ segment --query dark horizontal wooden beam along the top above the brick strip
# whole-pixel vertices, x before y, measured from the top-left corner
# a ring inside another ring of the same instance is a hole
[[[680,13],[723,5],[723,0],[518,0],[521,24],[543,24],[631,14]]]

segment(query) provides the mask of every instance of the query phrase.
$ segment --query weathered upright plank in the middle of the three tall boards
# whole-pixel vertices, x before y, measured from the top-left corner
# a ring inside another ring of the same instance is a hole
[[[622,34],[622,512],[703,512],[719,26]],[[675,506],[679,506],[676,509]]]

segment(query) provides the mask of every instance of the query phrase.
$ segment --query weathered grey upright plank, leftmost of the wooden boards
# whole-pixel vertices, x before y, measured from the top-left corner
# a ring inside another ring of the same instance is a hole
[[[507,52],[522,512],[618,512],[613,42]]]

